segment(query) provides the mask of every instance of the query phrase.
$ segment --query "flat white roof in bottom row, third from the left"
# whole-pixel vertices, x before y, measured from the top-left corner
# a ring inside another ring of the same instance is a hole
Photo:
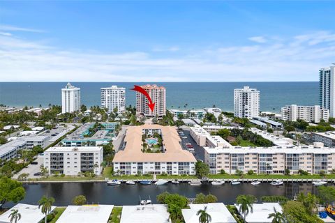
[[[168,223],[169,216],[164,204],[123,206],[120,223]]]

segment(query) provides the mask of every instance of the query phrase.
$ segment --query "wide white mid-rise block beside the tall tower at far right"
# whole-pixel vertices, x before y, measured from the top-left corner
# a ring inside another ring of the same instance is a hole
[[[324,109],[320,105],[286,105],[281,108],[281,116],[285,121],[297,121],[301,119],[308,123],[320,123],[322,119],[324,121],[329,120],[329,109]]]

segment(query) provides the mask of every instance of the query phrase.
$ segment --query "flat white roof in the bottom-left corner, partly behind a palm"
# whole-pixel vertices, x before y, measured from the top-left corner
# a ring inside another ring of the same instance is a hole
[[[52,206],[51,210],[54,210],[54,206]],[[37,205],[25,204],[25,203],[17,203],[13,208],[10,208],[5,213],[0,215],[1,223],[10,223],[10,213],[11,210],[19,210],[21,214],[21,219],[17,221],[17,223],[37,223],[42,220],[45,215],[38,209]]]

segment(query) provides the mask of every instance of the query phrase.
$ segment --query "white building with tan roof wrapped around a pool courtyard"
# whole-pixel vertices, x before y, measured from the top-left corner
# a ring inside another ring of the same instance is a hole
[[[146,138],[152,134],[161,137],[161,146],[158,146],[158,139],[155,137]],[[144,146],[149,144],[151,150],[145,150]],[[124,145],[115,154],[113,166],[114,173],[121,175],[195,175],[195,162],[192,153],[181,148],[181,139],[176,128],[146,124],[129,126],[126,129]]]

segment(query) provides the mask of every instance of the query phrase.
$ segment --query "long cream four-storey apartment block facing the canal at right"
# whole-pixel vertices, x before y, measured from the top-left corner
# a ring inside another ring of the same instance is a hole
[[[221,169],[228,174],[235,174],[237,170],[243,173],[252,170],[255,174],[284,174],[285,169],[292,174],[298,174],[299,169],[309,174],[329,174],[335,169],[335,151],[318,144],[295,148],[204,147],[204,162],[209,164],[211,174],[219,174]]]

